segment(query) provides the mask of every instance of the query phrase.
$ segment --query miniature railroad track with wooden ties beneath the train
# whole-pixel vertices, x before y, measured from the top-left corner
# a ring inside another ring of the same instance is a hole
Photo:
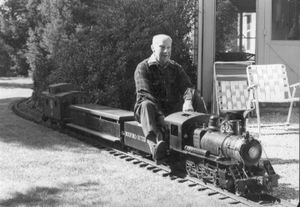
[[[199,180],[194,177],[186,175],[186,173],[174,172],[168,165],[160,164],[157,165],[151,159],[143,157],[140,154],[128,152],[122,150],[117,146],[111,146],[109,142],[102,140],[95,140],[95,138],[88,138],[86,135],[78,135],[73,131],[67,132],[71,133],[72,136],[79,138],[82,141],[87,141],[88,144],[91,144],[101,150],[106,150],[109,154],[119,159],[122,159],[126,162],[130,162],[133,165],[145,168],[145,170],[150,170],[153,173],[159,174],[163,177],[169,177],[171,180],[174,180],[178,183],[184,183],[191,188],[196,188],[201,193],[206,193],[207,196],[210,196],[215,199],[225,200],[228,204],[242,204],[245,206],[253,207],[263,207],[263,206],[272,206],[272,207],[296,207],[295,205],[289,203],[288,201],[273,197],[271,195],[263,195],[261,198],[248,199],[245,197],[238,196],[229,191],[218,188],[210,183],[205,183],[202,180]],[[88,139],[87,139],[88,138]]]

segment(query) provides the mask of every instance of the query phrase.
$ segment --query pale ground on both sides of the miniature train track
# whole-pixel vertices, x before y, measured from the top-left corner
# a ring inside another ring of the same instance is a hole
[[[29,88],[30,80],[0,78],[0,206],[229,206],[16,116],[12,97],[29,97]],[[297,204],[299,132],[269,131],[261,142],[281,176],[274,193]]]

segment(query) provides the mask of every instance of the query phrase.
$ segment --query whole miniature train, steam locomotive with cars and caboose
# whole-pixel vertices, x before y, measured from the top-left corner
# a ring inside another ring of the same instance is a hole
[[[56,93],[50,93],[51,89]],[[44,117],[151,154],[133,112],[84,103],[85,94],[64,83],[50,85],[43,94]],[[57,103],[49,104],[53,100]],[[173,113],[165,122],[169,152],[180,155],[190,176],[240,195],[268,192],[278,185],[279,176],[268,160],[261,160],[262,146],[245,132],[244,120],[228,120],[226,128],[228,123],[232,127],[227,131],[222,129],[224,124],[220,127],[219,117],[198,112]]]

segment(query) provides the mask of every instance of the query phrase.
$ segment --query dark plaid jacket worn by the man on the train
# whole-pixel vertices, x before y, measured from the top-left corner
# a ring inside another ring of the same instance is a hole
[[[149,58],[138,64],[134,80],[136,86],[135,109],[144,100],[157,104],[164,115],[181,111],[185,99],[192,99],[190,78],[182,67],[171,60],[164,67]]]

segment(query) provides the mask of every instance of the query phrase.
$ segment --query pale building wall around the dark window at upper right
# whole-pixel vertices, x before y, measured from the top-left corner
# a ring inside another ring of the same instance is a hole
[[[287,67],[289,83],[293,84],[300,81],[300,36],[299,39],[274,38],[272,32],[272,12],[275,9],[275,1],[257,0],[257,49],[256,64],[284,64]],[[300,5],[299,5],[300,6]],[[300,15],[300,12],[299,12]],[[274,29],[274,28],[273,28]],[[299,33],[300,35],[300,33]],[[300,96],[300,90],[297,90]]]

